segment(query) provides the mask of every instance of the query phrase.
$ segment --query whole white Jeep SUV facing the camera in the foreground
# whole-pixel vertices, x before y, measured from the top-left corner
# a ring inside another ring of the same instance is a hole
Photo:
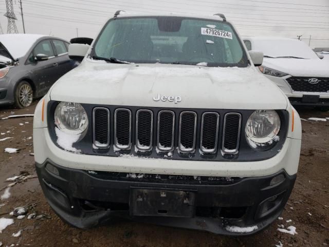
[[[223,14],[118,11],[35,109],[36,171],[54,211],[241,235],[293,189],[301,122]]]

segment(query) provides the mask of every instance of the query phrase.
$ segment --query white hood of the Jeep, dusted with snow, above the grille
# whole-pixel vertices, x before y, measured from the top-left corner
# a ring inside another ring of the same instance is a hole
[[[178,103],[153,97],[180,96]],[[113,64],[85,59],[50,90],[51,100],[204,109],[286,109],[287,98],[255,68]]]

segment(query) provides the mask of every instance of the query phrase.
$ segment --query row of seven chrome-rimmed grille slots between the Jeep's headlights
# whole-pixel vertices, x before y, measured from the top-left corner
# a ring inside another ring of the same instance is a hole
[[[132,117],[132,116],[135,117]],[[140,109],[132,113],[130,109],[116,109],[114,112],[115,151],[130,150],[135,144],[136,151],[172,152],[177,147],[180,153],[216,153],[218,144],[224,154],[236,154],[239,150],[241,114],[226,113],[223,134],[220,138],[220,114],[204,112],[198,116],[193,111],[175,113],[162,110],[157,113]],[[178,118],[178,119],[176,119]],[[199,119],[200,118],[200,119]],[[109,148],[111,113],[106,108],[93,111],[94,145]],[[134,122],[133,122],[134,119]],[[134,131],[134,140],[132,139]],[[178,142],[178,145],[175,144]],[[102,145],[99,145],[102,144]]]

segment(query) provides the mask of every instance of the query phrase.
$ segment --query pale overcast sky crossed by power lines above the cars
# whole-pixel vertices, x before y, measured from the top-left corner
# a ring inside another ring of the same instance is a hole
[[[12,0],[16,25],[23,32],[20,0]],[[297,38],[311,47],[329,47],[328,0],[22,0],[27,33],[69,40],[94,38],[118,10],[136,13],[224,13],[242,36]],[[0,0],[0,24],[7,32],[5,0]],[[0,30],[1,32],[1,30]]]

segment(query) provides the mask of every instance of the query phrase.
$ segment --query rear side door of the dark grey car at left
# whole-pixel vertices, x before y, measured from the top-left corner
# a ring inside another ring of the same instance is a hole
[[[56,58],[54,61],[58,63],[58,66],[56,67],[56,75],[54,75],[54,81],[57,81],[61,76],[74,68],[76,63],[68,57],[68,50],[64,41],[53,39],[51,42],[56,52]]]

